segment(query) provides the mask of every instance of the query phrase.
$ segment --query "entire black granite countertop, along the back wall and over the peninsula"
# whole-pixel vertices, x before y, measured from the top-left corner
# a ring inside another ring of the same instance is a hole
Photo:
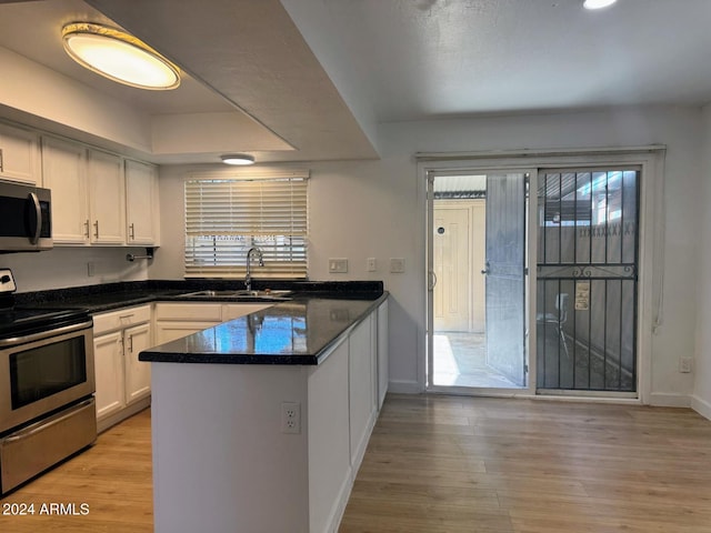
[[[254,289],[290,290],[288,301],[270,298],[189,295],[238,290],[236,280],[138,281],[16,294],[16,304],[83,309],[96,314],[156,301],[273,303],[140,353],[141,361],[217,364],[319,364],[350,328],[388,298],[380,281],[311,282],[256,280]]]

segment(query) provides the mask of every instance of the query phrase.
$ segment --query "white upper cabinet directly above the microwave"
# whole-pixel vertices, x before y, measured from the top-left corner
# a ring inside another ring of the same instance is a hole
[[[37,133],[0,123],[0,180],[42,184]]]

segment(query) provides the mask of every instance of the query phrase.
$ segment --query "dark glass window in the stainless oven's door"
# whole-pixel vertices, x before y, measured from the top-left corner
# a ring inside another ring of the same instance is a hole
[[[10,354],[12,409],[86,381],[83,335]]]

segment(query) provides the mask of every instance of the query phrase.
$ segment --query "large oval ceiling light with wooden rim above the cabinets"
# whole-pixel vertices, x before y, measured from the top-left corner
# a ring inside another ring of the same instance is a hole
[[[174,89],[180,84],[178,67],[121,30],[72,22],[62,28],[62,41],[74,61],[116,82],[150,90]]]

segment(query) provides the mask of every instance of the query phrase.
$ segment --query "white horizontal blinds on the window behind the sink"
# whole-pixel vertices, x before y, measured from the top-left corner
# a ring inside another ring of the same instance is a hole
[[[186,278],[306,278],[308,172],[186,182]]]

